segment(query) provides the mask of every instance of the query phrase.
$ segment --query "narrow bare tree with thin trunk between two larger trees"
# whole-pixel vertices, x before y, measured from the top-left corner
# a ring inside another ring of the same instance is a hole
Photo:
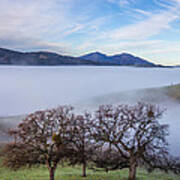
[[[78,115],[72,131],[72,147],[74,153],[70,157],[71,165],[82,164],[82,176],[86,177],[87,162],[92,159],[98,143],[91,136],[92,118],[90,113]]]

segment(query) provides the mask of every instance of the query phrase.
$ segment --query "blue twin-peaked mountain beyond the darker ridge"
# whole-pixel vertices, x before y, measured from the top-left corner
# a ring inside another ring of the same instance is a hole
[[[91,60],[93,62],[107,63],[107,64],[113,64],[113,65],[138,66],[138,67],[139,66],[141,67],[156,67],[157,66],[154,63],[151,63],[139,57],[135,57],[128,53],[107,56],[105,54],[95,52],[95,53],[86,54],[84,56],[81,56],[80,58]]]

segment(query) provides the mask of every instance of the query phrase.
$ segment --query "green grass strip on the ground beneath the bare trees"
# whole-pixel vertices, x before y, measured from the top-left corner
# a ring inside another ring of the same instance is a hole
[[[0,168],[0,180],[48,180],[49,173],[46,167],[21,169],[19,171],[12,171],[7,168]],[[56,180],[127,180],[128,170],[105,172],[87,171],[87,177],[81,177],[80,166],[76,167],[61,167],[56,170]],[[148,174],[146,171],[139,169],[137,173],[137,180],[180,180],[180,176],[174,174],[164,174],[156,171]]]

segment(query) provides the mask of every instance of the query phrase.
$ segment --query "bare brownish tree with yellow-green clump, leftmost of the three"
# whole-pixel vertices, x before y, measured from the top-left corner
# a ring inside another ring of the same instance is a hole
[[[12,169],[46,164],[50,180],[54,180],[57,164],[71,153],[69,132],[74,115],[72,107],[37,111],[28,115],[16,129],[10,131],[14,142],[3,150],[3,164]]]

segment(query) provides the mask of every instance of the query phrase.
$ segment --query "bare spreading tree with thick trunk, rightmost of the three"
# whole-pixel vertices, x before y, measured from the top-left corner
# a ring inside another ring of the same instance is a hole
[[[126,160],[129,180],[136,179],[136,168],[140,162],[153,169],[168,157],[168,125],[158,121],[163,112],[146,103],[117,107],[103,105],[96,112],[94,138],[116,149],[119,160]]]

